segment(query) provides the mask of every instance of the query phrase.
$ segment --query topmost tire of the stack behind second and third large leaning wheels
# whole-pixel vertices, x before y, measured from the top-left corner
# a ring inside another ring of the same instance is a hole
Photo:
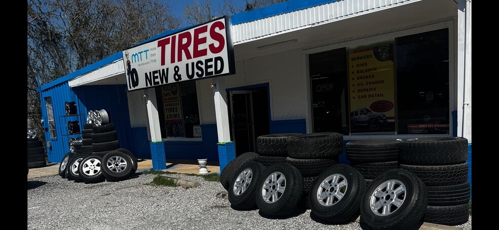
[[[342,152],[343,135],[339,133],[310,133],[288,139],[288,155],[295,159],[334,159]]]

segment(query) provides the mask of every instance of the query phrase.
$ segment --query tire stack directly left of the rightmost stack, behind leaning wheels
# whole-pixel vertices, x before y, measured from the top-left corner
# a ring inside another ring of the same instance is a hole
[[[345,145],[346,159],[366,180],[366,185],[384,171],[399,168],[400,140],[360,140]]]

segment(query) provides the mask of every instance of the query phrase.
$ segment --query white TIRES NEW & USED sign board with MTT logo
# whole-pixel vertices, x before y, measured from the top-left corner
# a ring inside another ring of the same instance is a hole
[[[235,73],[229,17],[123,51],[128,90]]]

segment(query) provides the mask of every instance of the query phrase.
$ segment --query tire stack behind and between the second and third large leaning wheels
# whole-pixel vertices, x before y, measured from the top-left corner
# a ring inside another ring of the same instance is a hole
[[[338,164],[343,152],[343,135],[339,133],[310,133],[290,136],[286,162],[297,168],[303,180],[300,206],[309,209],[309,194],[317,176]]]

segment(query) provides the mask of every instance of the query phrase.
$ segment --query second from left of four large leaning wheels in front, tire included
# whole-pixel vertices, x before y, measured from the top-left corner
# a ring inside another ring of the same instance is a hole
[[[261,175],[256,193],[257,207],[262,213],[288,216],[303,197],[303,178],[300,171],[288,163],[275,163]]]

